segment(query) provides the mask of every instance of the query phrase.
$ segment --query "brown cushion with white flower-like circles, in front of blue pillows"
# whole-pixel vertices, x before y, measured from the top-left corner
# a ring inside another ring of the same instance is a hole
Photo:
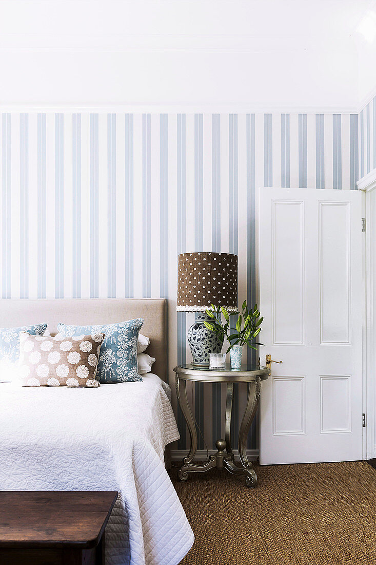
[[[90,336],[31,336],[20,332],[22,386],[99,386],[97,374],[104,333]]]

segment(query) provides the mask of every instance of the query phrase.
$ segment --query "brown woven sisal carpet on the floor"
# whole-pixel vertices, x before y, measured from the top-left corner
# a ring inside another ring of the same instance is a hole
[[[365,462],[170,476],[195,533],[181,565],[376,563],[376,471]]]

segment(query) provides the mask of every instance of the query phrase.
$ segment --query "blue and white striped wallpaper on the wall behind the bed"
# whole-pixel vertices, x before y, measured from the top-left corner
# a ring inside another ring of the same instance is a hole
[[[376,164],[374,105],[360,115],[361,171]],[[0,139],[2,297],[167,297],[170,384],[194,319],[175,311],[178,253],[238,254],[239,301],[253,303],[256,188],[358,179],[356,114],[2,114]],[[199,385],[192,399],[212,447],[225,391]],[[245,402],[241,389],[234,444]]]

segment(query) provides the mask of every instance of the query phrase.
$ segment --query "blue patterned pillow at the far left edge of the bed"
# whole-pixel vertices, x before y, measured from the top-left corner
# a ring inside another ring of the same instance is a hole
[[[11,372],[20,357],[20,332],[42,336],[47,324],[23,325],[19,328],[0,328],[0,383],[10,383]]]

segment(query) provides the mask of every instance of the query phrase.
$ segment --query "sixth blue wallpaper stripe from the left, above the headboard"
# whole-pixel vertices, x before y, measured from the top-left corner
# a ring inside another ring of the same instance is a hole
[[[90,298],[99,297],[99,133],[90,114]]]

